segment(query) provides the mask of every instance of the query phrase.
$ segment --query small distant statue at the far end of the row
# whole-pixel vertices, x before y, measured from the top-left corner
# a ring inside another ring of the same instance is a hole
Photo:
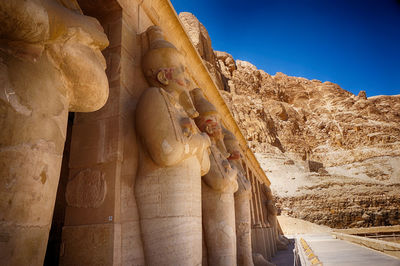
[[[280,234],[278,229],[278,220],[276,218],[278,214],[278,210],[274,204],[274,198],[272,196],[272,191],[268,186],[262,186],[262,193],[266,196],[267,200],[264,202],[267,208],[267,219],[269,225],[272,227],[272,232],[274,234],[274,238],[276,239],[276,246],[280,250],[287,249],[287,245],[289,241],[283,235]]]

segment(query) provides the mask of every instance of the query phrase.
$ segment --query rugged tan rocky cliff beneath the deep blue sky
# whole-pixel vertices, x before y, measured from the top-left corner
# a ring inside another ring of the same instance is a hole
[[[194,15],[179,17],[283,213],[336,228],[400,224],[400,95],[270,75],[214,51]]]

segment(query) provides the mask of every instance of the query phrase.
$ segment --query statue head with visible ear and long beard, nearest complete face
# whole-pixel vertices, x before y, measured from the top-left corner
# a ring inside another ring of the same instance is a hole
[[[142,68],[147,81],[151,86],[161,87],[171,93],[190,117],[197,117],[199,114],[189,96],[190,81],[182,55],[164,39],[160,27],[150,26],[146,33],[150,47],[142,59]]]

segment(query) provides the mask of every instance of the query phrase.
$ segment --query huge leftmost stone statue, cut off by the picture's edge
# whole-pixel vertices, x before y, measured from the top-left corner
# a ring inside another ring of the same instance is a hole
[[[43,265],[68,111],[108,97],[108,45],[75,0],[0,1],[0,261]]]

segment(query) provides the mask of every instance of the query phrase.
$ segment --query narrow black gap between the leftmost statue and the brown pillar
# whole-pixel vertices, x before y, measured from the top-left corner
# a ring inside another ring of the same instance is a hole
[[[65,200],[65,189],[67,187],[69,175],[69,156],[71,146],[72,125],[75,113],[68,114],[67,137],[65,140],[63,160],[61,165],[60,180],[58,182],[56,203],[54,205],[53,220],[51,223],[49,240],[47,242],[46,257],[43,265],[58,265],[60,254],[62,254],[61,234],[64,226],[65,208],[67,203]]]

